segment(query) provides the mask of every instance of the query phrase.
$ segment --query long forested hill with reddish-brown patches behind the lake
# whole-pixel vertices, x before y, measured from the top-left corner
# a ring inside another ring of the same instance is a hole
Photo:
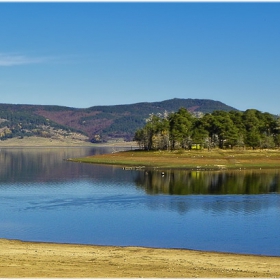
[[[73,137],[93,142],[131,140],[149,114],[174,112],[184,107],[194,114],[236,110],[208,99],[178,99],[128,105],[77,109],[48,105],[0,104],[0,139],[41,136]]]

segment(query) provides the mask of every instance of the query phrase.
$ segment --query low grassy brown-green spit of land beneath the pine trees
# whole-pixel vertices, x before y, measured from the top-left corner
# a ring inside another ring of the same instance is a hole
[[[75,162],[111,164],[134,168],[162,169],[244,169],[280,168],[279,150],[131,150],[105,155],[69,159]]]

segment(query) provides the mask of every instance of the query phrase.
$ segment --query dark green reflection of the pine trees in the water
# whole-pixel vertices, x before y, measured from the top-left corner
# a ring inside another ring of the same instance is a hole
[[[145,171],[137,174],[135,184],[147,194],[279,193],[280,171]]]

